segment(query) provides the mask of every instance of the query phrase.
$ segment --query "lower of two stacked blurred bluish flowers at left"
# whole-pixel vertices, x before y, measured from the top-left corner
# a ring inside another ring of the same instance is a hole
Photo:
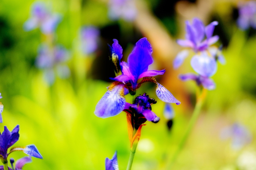
[[[44,70],[44,76],[49,84],[52,84],[57,75],[65,79],[70,75],[66,61],[69,59],[67,50],[60,45],[50,47],[46,44],[39,48],[36,58],[36,66]]]

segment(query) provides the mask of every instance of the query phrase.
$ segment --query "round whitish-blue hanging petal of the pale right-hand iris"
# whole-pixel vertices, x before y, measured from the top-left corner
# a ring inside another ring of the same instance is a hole
[[[206,77],[214,75],[217,70],[217,64],[214,58],[205,53],[192,57],[191,66],[197,73]]]

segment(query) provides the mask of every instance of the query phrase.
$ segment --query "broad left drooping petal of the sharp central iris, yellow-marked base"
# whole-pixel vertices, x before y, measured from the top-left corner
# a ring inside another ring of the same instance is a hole
[[[114,82],[115,83],[115,82]],[[124,84],[112,84],[96,105],[94,111],[98,117],[115,116],[124,110]]]

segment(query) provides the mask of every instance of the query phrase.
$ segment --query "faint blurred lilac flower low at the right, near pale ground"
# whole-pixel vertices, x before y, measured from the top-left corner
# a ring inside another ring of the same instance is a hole
[[[232,126],[223,128],[223,130],[221,131],[221,138],[230,138],[232,140],[232,147],[234,149],[239,149],[245,144],[251,142],[252,135],[245,126],[234,123]]]

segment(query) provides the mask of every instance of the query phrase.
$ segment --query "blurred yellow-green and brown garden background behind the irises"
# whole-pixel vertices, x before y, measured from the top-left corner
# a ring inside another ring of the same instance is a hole
[[[34,64],[44,35],[39,29],[23,30],[33,2],[0,1],[0,92],[3,96],[0,101],[4,105],[0,131],[4,126],[11,130],[19,124],[20,138],[14,146],[35,144],[44,157],[33,158],[24,170],[102,170],[105,158],[112,158],[115,151],[120,170],[126,168],[130,144],[125,113],[102,119],[94,115],[94,109],[110,85],[104,80],[113,76],[113,71],[104,66],[108,64],[105,62],[107,43],[118,38],[127,58],[134,43],[142,37],[147,37],[152,44],[153,67],[166,68],[165,75],[157,77],[158,81],[181,105],[172,105],[174,125],[168,132],[167,120],[163,117],[164,102],[157,99],[154,84],[145,83],[139,89],[138,94],[147,92],[158,101],[152,107],[161,121],[143,126],[133,169],[165,169],[195,105],[195,83],[178,79],[180,73],[192,72],[189,59],[178,70],[172,67],[173,58],[182,49],[175,39],[184,38],[184,21],[193,17],[203,19],[206,25],[213,20],[219,22],[214,34],[221,37],[217,45],[223,44],[226,64],[218,64],[218,71],[212,77],[217,87],[208,91],[200,117],[172,169],[256,169],[256,32],[237,28],[236,1],[207,0],[209,8],[204,0],[172,1],[171,6],[164,0],[138,0],[139,14],[143,12],[144,17],[150,18],[148,26],[140,24],[140,19],[110,20],[107,0],[45,0],[52,11],[63,16],[54,41],[65,46],[71,56],[68,61],[71,77],[56,78],[53,85],[45,82],[42,70]],[[94,25],[101,30],[99,49],[90,56],[84,56],[79,48],[79,29],[84,25]],[[116,27],[118,33],[112,29]],[[130,101],[129,95],[127,101]],[[220,138],[222,129],[234,122],[243,124],[252,135],[251,143],[240,149],[232,148],[231,140]],[[22,152],[10,155],[15,160],[22,156],[25,156]]]

